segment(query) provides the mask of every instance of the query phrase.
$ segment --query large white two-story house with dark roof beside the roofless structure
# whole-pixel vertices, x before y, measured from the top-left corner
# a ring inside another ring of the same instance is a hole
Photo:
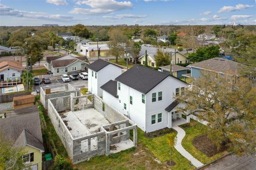
[[[101,86],[103,101],[129,117],[145,132],[172,128],[180,119],[175,95],[187,84],[169,74],[135,65]],[[185,120],[186,121],[186,120]]]

